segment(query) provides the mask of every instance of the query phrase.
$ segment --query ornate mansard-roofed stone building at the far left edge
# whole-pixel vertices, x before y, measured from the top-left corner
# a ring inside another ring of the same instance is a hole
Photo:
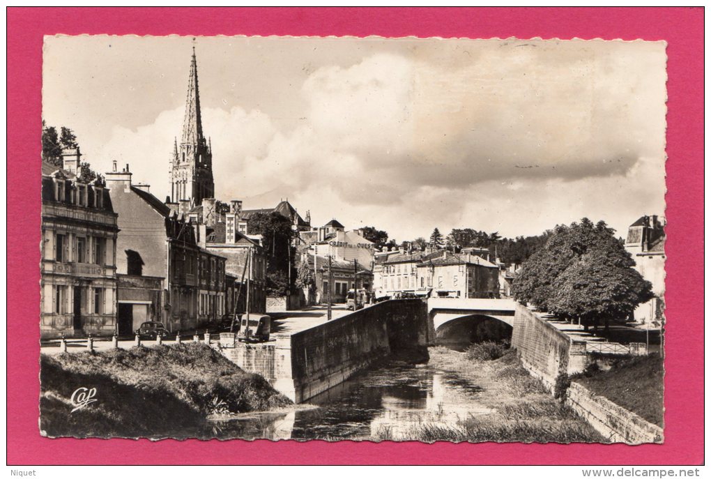
[[[100,180],[82,181],[80,151],[42,163],[42,337],[110,335],[116,328],[117,214]]]

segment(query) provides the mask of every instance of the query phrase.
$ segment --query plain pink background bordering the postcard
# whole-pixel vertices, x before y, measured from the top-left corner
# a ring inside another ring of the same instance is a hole
[[[38,433],[43,35],[623,38],[668,42],[663,445],[48,439]],[[8,34],[9,464],[700,464],[703,461],[703,9],[11,8]]]

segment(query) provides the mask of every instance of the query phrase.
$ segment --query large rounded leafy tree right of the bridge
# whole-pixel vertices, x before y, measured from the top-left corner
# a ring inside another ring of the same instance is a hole
[[[604,222],[587,218],[557,226],[518,270],[513,296],[567,318],[628,316],[651,298],[651,285],[632,267],[634,259]]]

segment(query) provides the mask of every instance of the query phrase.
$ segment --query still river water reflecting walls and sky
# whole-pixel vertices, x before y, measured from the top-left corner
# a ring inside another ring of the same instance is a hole
[[[470,414],[488,414],[477,402],[481,388],[454,372],[387,365],[288,411],[244,414],[220,423],[220,438],[400,438],[424,422],[453,425]]]

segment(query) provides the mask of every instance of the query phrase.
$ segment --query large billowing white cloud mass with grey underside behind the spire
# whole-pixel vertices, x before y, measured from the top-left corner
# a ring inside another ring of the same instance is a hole
[[[455,68],[395,53],[318,68],[290,129],[257,110],[203,108],[216,194],[245,208],[288,197],[315,223],[338,217],[400,240],[435,226],[535,234],[582,216],[622,229],[661,212],[663,55],[523,47]],[[164,198],[182,116],[114,127],[92,163],[131,163]]]

